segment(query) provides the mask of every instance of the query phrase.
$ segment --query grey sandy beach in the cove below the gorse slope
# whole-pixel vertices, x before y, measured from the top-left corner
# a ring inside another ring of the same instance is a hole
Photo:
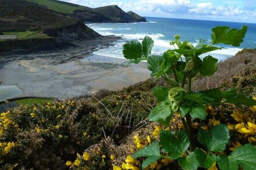
[[[104,45],[97,48],[104,48]],[[100,89],[116,91],[150,78],[146,63],[126,66],[126,59],[93,55],[93,50],[84,53],[78,50],[62,56],[67,50],[10,57],[0,63],[0,85],[16,85],[22,90],[22,95],[9,98],[70,99]]]

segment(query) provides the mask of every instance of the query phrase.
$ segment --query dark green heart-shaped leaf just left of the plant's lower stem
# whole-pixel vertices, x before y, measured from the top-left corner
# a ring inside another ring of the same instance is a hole
[[[172,159],[180,157],[189,148],[189,137],[184,131],[179,131],[177,138],[171,131],[161,131],[159,136],[163,151],[168,152]]]

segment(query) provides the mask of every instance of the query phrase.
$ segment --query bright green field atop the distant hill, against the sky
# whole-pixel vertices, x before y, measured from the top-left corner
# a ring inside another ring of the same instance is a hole
[[[78,8],[76,6],[70,6],[63,3],[48,1],[48,0],[27,0],[30,2],[35,2],[38,5],[43,5],[47,7],[48,9],[55,10],[56,12],[62,12],[62,13],[72,13],[76,9],[83,9]]]

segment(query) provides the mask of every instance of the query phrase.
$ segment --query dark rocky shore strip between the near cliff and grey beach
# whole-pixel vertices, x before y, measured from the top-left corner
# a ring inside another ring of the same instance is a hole
[[[83,59],[96,50],[112,46],[113,42],[119,39],[121,39],[121,37],[108,35],[96,39],[76,40],[72,42],[73,46],[62,49],[19,49],[12,50],[11,52],[2,52],[0,53],[0,64],[13,62],[15,60],[33,60],[38,58],[55,59],[55,64],[65,63],[76,59]]]

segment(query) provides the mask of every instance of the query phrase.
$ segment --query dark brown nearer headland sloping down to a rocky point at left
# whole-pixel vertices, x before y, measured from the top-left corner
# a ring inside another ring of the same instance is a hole
[[[0,0],[0,32],[42,31],[57,41],[100,35],[80,21],[25,0]]]

